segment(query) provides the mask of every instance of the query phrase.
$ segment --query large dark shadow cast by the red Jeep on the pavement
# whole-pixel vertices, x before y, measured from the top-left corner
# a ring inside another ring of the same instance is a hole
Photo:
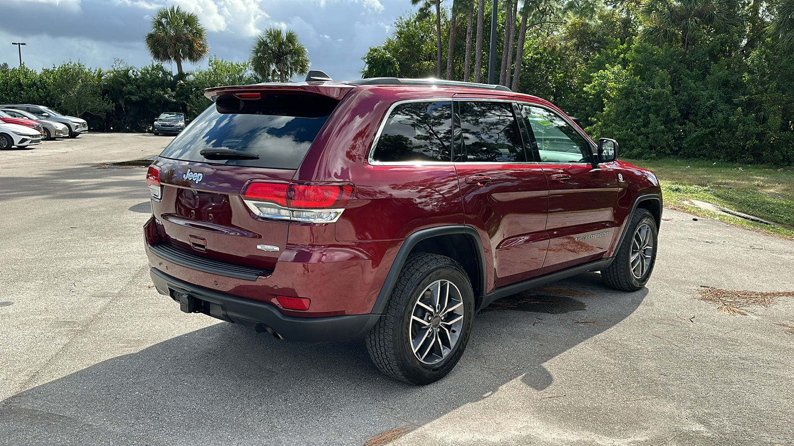
[[[554,383],[546,362],[584,355],[573,348],[629,316],[647,294],[607,289],[595,273],[555,285],[557,295],[480,313],[461,362],[429,386],[380,373],[362,340],[298,344],[218,323],[0,402],[0,443],[360,445],[507,383],[540,394]],[[566,288],[572,295],[559,295]]]

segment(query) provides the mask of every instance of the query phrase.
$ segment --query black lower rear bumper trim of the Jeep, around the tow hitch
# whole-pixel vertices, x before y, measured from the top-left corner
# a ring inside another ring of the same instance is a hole
[[[286,340],[299,342],[352,340],[367,334],[380,317],[380,314],[373,313],[334,317],[285,316],[275,306],[207,290],[175,279],[156,268],[152,268],[149,274],[160,294],[171,295],[173,291],[177,291],[216,304],[222,311],[218,314],[222,317],[216,317],[238,320],[244,325],[255,328],[257,324],[262,324],[270,327]]]

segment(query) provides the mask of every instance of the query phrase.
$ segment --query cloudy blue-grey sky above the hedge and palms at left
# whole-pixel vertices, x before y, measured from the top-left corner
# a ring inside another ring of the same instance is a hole
[[[249,57],[253,37],[271,26],[294,29],[309,50],[311,67],[334,79],[358,79],[361,57],[383,42],[410,0],[0,0],[0,63],[22,61],[40,70],[67,60],[110,68],[114,59],[141,67],[157,8],[175,4],[197,13],[207,29],[210,54]],[[168,67],[168,64],[166,65]],[[185,63],[186,70],[193,66]],[[198,63],[206,67],[206,60]],[[176,71],[174,66],[173,71]]]

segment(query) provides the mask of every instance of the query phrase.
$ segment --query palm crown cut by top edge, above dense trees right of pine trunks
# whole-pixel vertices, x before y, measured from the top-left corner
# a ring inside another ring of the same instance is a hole
[[[648,0],[640,10],[642,37],[657,44],[679,40],[684,55],[698,29],[723,33],[738,20],[735,0]]]

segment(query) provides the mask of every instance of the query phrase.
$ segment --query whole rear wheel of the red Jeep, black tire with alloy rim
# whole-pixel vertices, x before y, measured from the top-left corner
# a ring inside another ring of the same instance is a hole
[[[437,288],[431,288],[433,286]],[[444,289],[446,292],[441,291]],[[434,290],[438,290],[437,296],[445,294],[447,298],[445,308],[439,308],[440,298],[437,297],[436,310],[431,313],[424,310],[428,306],[418,301],[428,302],[426,299],[430,297],[433,302]],[[422,318],[414,317],[422,316],[421,312],[424,312]],[[461,359],[472,332],[473,319],[474,293],[461,265],[449,257],[417,252],[408,256],[384,314],[367,334],[367,351],[372,362],[385,374],[409,384],[430,384],[444,378]],[[460,325],[453,320],[459,320]],[[425,337],[420,336],[418,330],[426,330]],[[418,350],[414,353],[411,343],[419,338],[422,340],[418,341]],[[445,341],[449,342],[443,346]]]

